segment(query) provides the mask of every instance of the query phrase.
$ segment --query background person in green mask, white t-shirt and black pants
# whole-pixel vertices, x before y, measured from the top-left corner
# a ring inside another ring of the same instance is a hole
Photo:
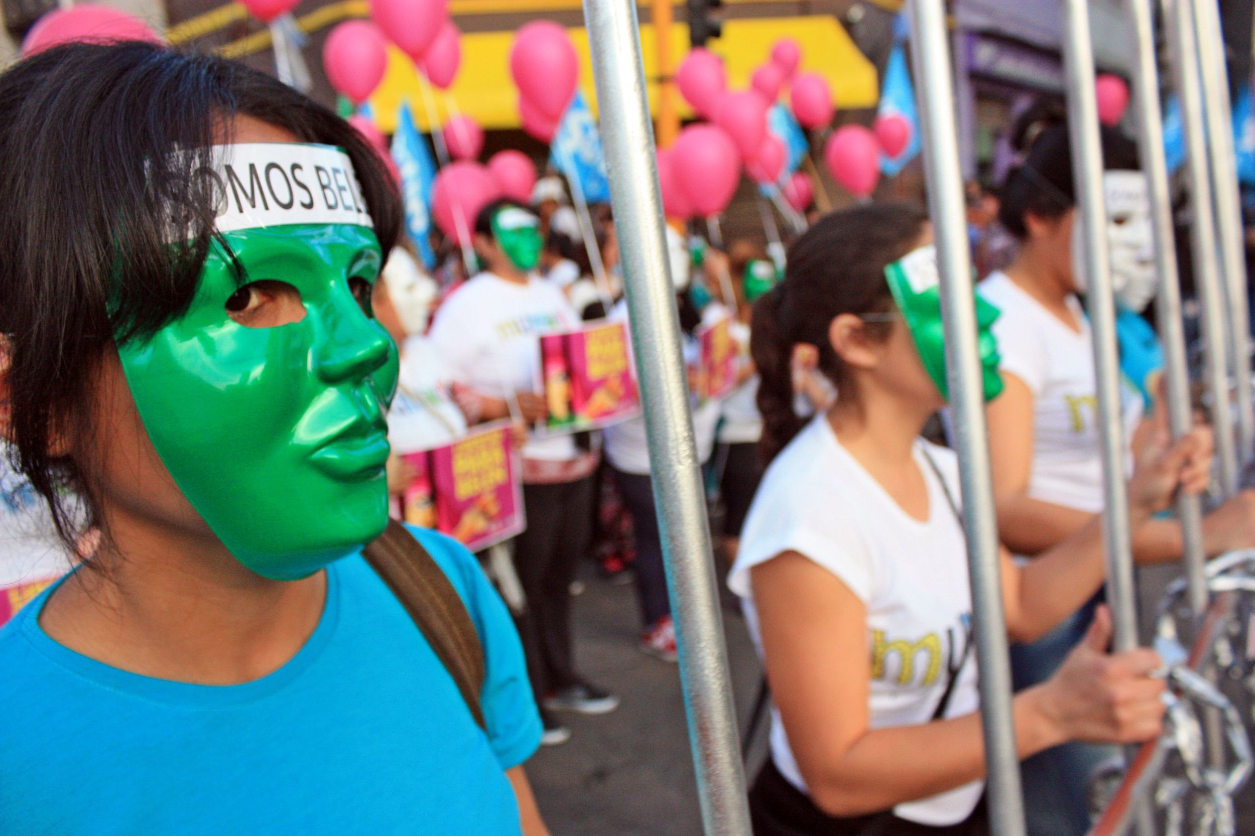
[[[487,269],[441,305],[430,343],[453,380],[478,395],[486,421],[517,410],[538,424],[548,414],[537,392],[540,338],[580,319],[562,291],[533,272],[543,240],[531,210],[511,200],[489,203],[476,218],[474,246]],[[596,467],[597,456],[572,436],[532,438],[523,447],[527,530],[515,541],[515,565],[527,611],[520,631],[551,743],[570,732],[550,712],[602,714],[619,705],[576,673],[571,646],[570,586],[591,546]]]

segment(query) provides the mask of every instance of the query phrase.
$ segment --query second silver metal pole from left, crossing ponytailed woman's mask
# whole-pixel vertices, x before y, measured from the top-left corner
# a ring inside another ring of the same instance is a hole
[[[999,565],[994,485],[985,429],[985,399],[976,345],[959,128],[944,0],[911,0],[911,58],[915,65],[929,211],[941,274],[946,374],[954,410],[963,523],[968,539],[976,658],[980,660],[980,721],[985,734],[990,832],[1024,836],[1024,797],[1012,712],[1012,672]]]

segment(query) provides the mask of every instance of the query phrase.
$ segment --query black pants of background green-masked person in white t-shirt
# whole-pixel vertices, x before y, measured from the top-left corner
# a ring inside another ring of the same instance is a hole
[[[592,477],[525,485],[527,531],[515,540],[515,571],[527,596],[518,620],[537,699],[577,682],[571,653],[571,581],[592,540]]]

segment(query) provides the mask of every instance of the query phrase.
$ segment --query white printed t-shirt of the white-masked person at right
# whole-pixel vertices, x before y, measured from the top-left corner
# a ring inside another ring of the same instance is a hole
[[[1004,272],[980,282],[980,295],[1001,314],[994,323],[1003,372],[1033,393],[1033,469],[1028,495],[1078,511],[1103,510],[1102,439],[1098,428],[1093,338],[1081,303],[1068,306],[1081,323],[1074,331]],[[1121,387],[1126,443],[1142,417],[1142,399],[1127,380]],[[1128,462],[1132,468],[1132,458]]]

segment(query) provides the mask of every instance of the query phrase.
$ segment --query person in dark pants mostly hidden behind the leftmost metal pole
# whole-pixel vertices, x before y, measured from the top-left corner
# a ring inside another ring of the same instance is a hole
[[[666,230],[668,255],[671,262],[671,280],[683,331],[684,360],[692,368],[698,362],[698,326],[727,316],[722,305],[708,305],[698,313],[688,296],[692,259],[684,238],[675,230]],[[628,303],[621,300],[611,311],[611,319],[628,321]],[[698,462],[705,466],[714,451],[715,427],[719,423],[719,402],[715,399],[694,404],[693,434],[697,442]],[[675,662],[675,626],[671,623],[671,604],[666,594],[666,575],[663,566],[663,540],[654,507],[654,487],[650,480],[649,443],[645,438],[645,418],[633,418],[604,431],[606,461],[614,468],[615,487],[633,518],[633,540],[636,560],[636,591],[640,603],[641,634],[638,646],[664,662]]]

